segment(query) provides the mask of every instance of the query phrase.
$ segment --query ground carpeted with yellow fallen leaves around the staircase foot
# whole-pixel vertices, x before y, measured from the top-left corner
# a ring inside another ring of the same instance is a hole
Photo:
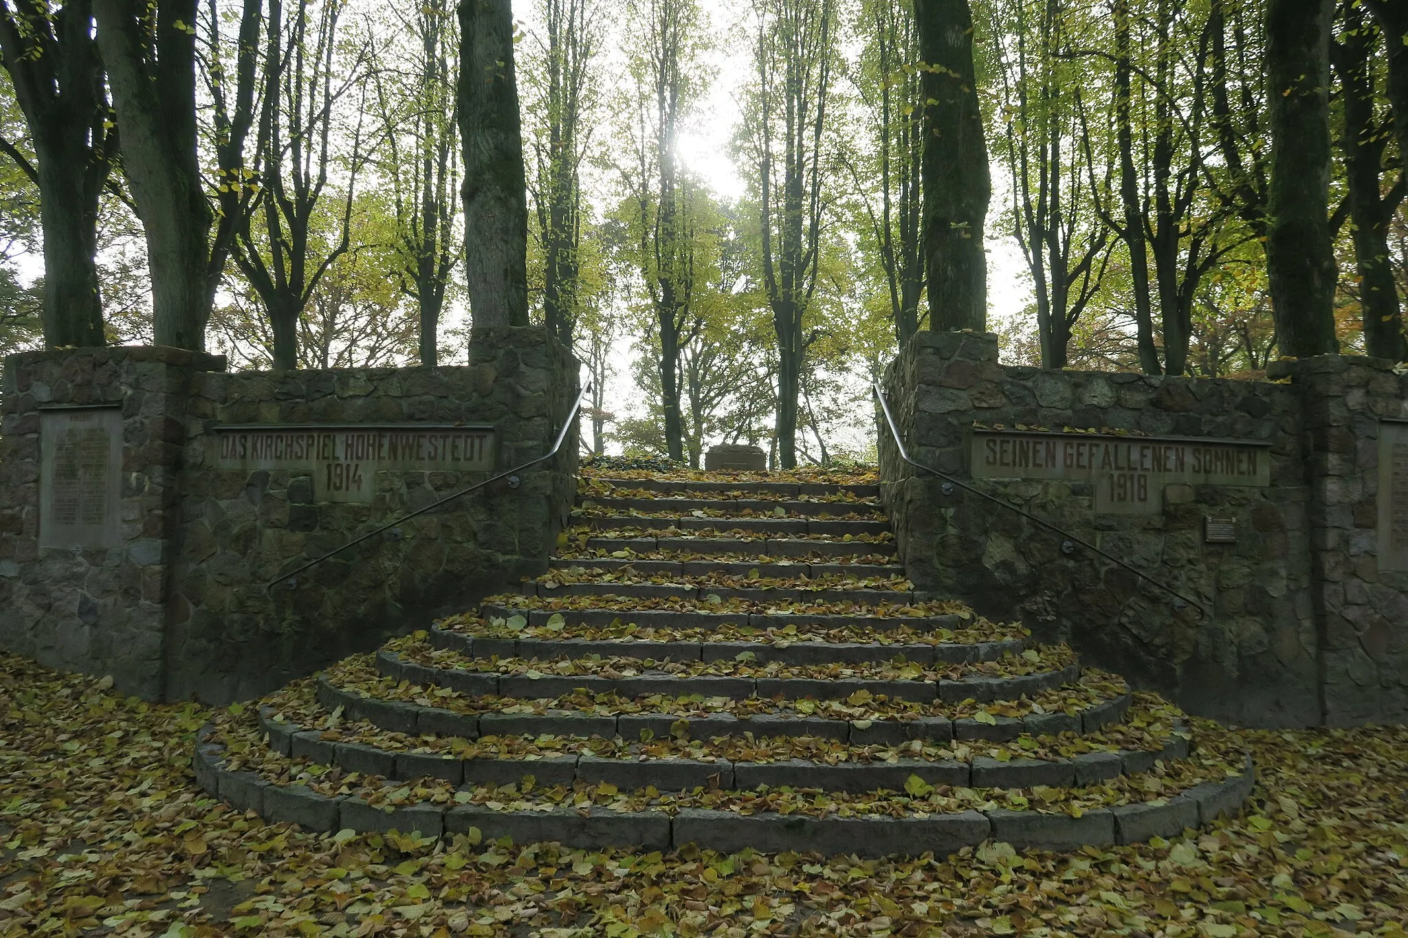
[[[1402,935],[1408,730],[1245,731],[1243,818],[1173,842],[848,861],[308,835],[189,771],[211,713],[0,657],[0,935]]]

